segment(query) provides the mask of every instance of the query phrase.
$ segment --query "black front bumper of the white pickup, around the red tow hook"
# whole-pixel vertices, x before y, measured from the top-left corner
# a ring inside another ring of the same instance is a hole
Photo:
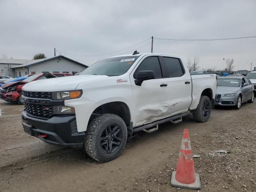
[[[81,148],[85,132],[77,132],[75,116],[53,116],[45,119],[22,111],[22,125],[24,131],[42,141],[73,148]],[[47,134],[42,137],[42,134]]]

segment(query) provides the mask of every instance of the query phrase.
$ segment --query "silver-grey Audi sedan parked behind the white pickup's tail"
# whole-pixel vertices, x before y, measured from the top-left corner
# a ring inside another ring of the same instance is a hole
[[[240,109],[242,103],[254,101],[254,86],[246,77],[220,77],[217,83],[215,105],[234,106]]]

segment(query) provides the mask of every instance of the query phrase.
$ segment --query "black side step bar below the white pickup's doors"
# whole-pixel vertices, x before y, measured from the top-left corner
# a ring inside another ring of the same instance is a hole
[[[165,118],[165,119],[162,119],[162,120],[159,120],[159,121],[155,121],[155,122],[152,122],[152,123],[149,123],[149,124],[146,124],[146,125],[136,127],[136,128],[133,129],[133,133],[136,133],[136,132],[139,132],[139,131],[142,131],[142,130],[147,132],[147,133],[152,133],[152,132],[158,130],[158,125],[159,124],[163,124],[163,123],[166,123],[166,122],[172,122],[172,123],[176,124],[176,123],[182,122],[182,117],[184,117],[186,115],[188,115],[188,113],[182,113],[182,114],[178,114],[178,115],[175,115],[175,116],[172,116],[172,117],[168,117],[168,118]],[[156,127],[152,128],[154,126],[156,126]],[[147,130],[149,128],[152,128],[152,129]]]

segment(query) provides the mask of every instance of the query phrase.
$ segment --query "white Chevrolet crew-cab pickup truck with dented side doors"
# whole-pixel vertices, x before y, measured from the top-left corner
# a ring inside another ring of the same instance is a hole
[[[100,60],[79,75],[23,86],[24,131],[41,140],[84,147],[100,162],[121,154],[128,134],[154,132],[192,112],[206,122],[216,75],[190,76],[181,58],[144,53]]]

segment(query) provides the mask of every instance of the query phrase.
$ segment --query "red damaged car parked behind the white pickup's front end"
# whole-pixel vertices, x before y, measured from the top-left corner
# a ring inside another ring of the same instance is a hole
[[[52,73],[54,74],[54,77],[63,77],[63,76],[70,76],[72,74],[66,74],[66,73]],[[46,79],[47,74],[44,75],[42,73],[40,74],[34,74],[30,77],[27,77],[25,80],[22,81],[16,81],[16,82],[8,82],[6,84],[3,84],[0,87],[0,98],[2,100],[8,101],[8,102],[17,102],[18,104],[23,104],[22,100],[22,87],[24,84],[27,84],[28,82]]]

